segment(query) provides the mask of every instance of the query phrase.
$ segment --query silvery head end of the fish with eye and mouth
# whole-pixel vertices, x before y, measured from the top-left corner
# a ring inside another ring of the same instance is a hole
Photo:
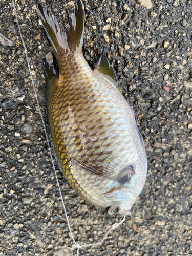
[[[108,193],[105,193],[105,207],[109,215],[130,215],[131,208],[138,197],[138,190],[133,187],[115,187]]]

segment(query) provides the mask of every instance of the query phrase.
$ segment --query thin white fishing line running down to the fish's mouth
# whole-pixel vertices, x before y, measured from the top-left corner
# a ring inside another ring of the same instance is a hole
[[[73,233],[72,233],[72,231],[71,231],[71,227],[70,227],[70,224],[69,224],[69,219],[68,219],[66,207],[65,207],[65,204],[64,204],[64,201],[63,201],[63,198],[62,198],[62,193],[61,193],[61,190],[60,190],[59,181],[58,181],[58,178],[57,178],[57,173],[56,173],[55,165],[54,165],[54,162],[53,162],[53,156],[52,156],[52,152],[51,152],[51,147],[50,147],[48,135],[47,135],[47,132],[46,132],[46,126],[45,126],[45,122],[44,122],[44,119],[43,119],[43,117],[42,117],[42,113],[41,113],[41,110],[40,110],[40,105],[39,105],[39,101],[38,101],[38,98],[37,98],[37,93],[36,93],[36,89],[35,89],[35,84],[34,84],[33,76],[32,76],[32,73],[31,73],[31,68],[30,68],[30,65],[29,65],[29,59],[28,59],[28,55],[27,55],[27,49],[26,49],[25,42],[24,42],[24,39],[23,39],[23,36],[22,36],[22,32],[20,31],[20,26],[19,26],[19,22],[18,22],[18,18],[17,18],[17,13],[16,13],[16,8],[15,8],[14,0],[12,0],[12,3],[13,3],[13,9],[14,9],[14,13],[15,13],[16,22],[17,22],[17,25],[18,25],[18,30],[19,30],[20,38],[22,39],[22,43],[23,43],[24,50],[25,50],[27,65],[28,65],[28,69],[29,69],[30,76],[31,76],[31,82],[32,82],[32,86],[33,86],[34,93],[35,93],[35,98],[36,98],[36,101],[37,101],[37,105],[38,105],[38,109],[39,109],[39,113],[40,113],[42,125],[44,126],[44,131],[45,131],[45,135],[46,135],[46,140],[47,140],[47,144],[48,144],[48,147],[49,147],[49,152],[50,152],[51,161],[52,161],[52,164],[53,164],[53,169],[54,169],[55,178],[56,178],[56,181],[57,181],[57,186],[58,186],[59,193],[60,193],[60,197],[61,197],[61,201],[62,201],[62,206],[63,206],[64,212],[65,212],[65,216],[66,216],[68,228],[69,228],[69,231],[70,231],[70,234],[71,234],[71,238],[72,238],[74,244],[77,246],[77,256],[79,256],[79,249],[80,249],[80,248],[83,248],[83,247],[90,247],[90,246],[102,244],[103,241],[105,240],[105,238],[106,238],[106,237],[108,236],[108,234],[111,232],[111,230],[114,230],[116,227],[118,227],[119,225],[121,225],[121,224],[124,222],[125,216],[123,217],[123,220],[122,220],[122,221],[120,221],[119,223],[115,223],[115,224],[110,228],[110,230],[105,234],[104,238],[103,238],[100,242],[98,242],[98,243],[93,243],[93,244],[82,245],[82,246],[80,246],[79,244],[77,244],[77,243],[75,242],[75,239],[74,239],[74,237],[73,237]]]

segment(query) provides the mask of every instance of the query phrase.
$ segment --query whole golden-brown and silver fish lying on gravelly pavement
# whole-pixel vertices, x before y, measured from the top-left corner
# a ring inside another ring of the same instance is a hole
[[[147,157],[135,114],[105,54],[94,70],[83,57],[84,5],[77,0],[61,26],[36,0],[54,51],[42,65],[53,153],[62,174],[87,202],[126,216],[141,193]]]

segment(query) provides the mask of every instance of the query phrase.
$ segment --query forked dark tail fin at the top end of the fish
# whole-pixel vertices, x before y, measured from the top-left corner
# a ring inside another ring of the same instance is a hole
[[[46,30],[56,58],[58,55],[68,54],[71,51],[81,51],[84,32],[82,0],[77,0],[75,7],[69,12],[68,24],[65,27],[61,26],[53,13],[38,0],[36,0],[36,11]]]

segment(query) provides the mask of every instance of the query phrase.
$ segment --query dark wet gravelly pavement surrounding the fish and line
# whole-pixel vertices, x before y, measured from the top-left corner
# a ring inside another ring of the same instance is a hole
[[[47,127],[42,59],[51,47],[34,0],[15,2]],[[148,174],[123,225],[80,255],[192,255],[192,2],[83,2],[83,54],[94,68],[105,46],[135,111]],[[72,2],[46,3],[65,22]],[[0,52],[0,255],[76,255],[10,0],[0,1]],[[122,218],[87,204],[56,169],[76,241],[102,239]]]

